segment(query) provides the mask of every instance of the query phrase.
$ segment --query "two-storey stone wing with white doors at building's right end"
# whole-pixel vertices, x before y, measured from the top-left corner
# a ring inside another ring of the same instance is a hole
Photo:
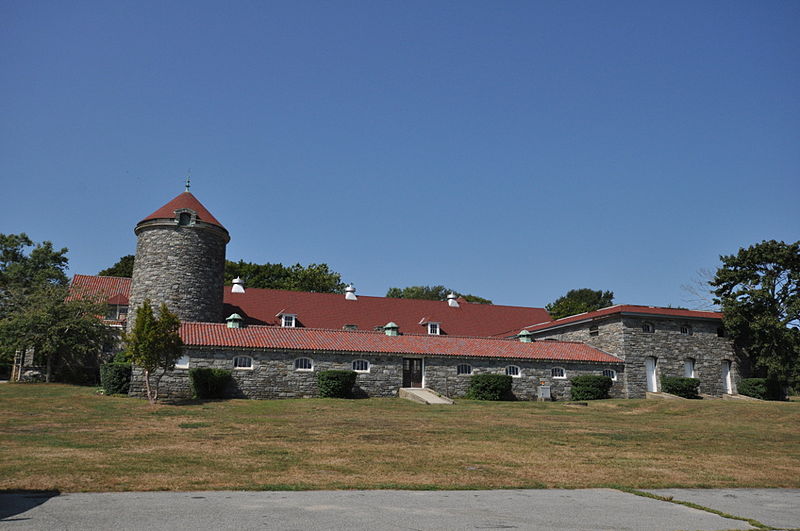
[[[645,331],[645,323],[652,332]],[[732,342],[720,337],[718,320],[615,314],[560,328],[533,332],[537,340],[580,341],[625,360],[624,396],[644,398],[647,392],[645,360],[656,358],[656,381],[661,376],[684,376],[687,359],[694,360],[700,393],[721,396],[723,364],[730,363],[731,389],[736,392],[739,372]],[[594,330],[592,327],[596,327]],[[660,387],[659,387],[660,388]]]

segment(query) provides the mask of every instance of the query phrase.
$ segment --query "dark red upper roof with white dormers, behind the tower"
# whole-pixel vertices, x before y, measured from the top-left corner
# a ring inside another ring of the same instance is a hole
[[[229,286],[225,288],[225,304],[226,315],[238,313],[250,324],[277,325],[279,313],[291,313],[307,328],[341,329],[344,325],[356,325],[359,330],[374,330],[394,321],[403,333],[425,333],[426,323],[433,322],[440,323],[442,334],[458,336],[507,337],[550,317],[543,308],[463,301],[454,308],[447,301],[365,295],[352,301],[342,294],[257,288],[231,293]]]

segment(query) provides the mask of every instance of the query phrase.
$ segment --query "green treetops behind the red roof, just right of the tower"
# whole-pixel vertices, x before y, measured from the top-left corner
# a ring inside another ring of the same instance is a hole
[[[342,276],[331,271],[328,264],[284,266],[283,264],[253,264],[239,260],[225,261],[225,284],[240,277],[246,288],[286,289],[315,293],[344,293]]]

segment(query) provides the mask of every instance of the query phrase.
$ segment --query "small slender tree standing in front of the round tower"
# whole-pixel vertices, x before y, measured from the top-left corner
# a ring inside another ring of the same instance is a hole
[[[181,322],[178,316],[170,312],[162,303],[158,317],[153,315],[150,301],[145,299],[136,309],[136,321],[133,330],[125,338],[126,355],[144,372],[144,386],[150,404],[158,400],[158,386],[167,371],[175,368],[175,362],[181,357],[183,341],[178,334]],[[161,369],[156,376],[155,385],[150,378]]]

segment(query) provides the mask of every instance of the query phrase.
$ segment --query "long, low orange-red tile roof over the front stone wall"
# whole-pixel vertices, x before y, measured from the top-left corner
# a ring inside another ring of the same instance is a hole
[[[189,346],[622,363],[616,356],[583,343],[566,341],[522,343],[499,338],[387,336],[383,332],[364,330],[276,326],[228,328],[217,323],[182,323],[180,334]]]

